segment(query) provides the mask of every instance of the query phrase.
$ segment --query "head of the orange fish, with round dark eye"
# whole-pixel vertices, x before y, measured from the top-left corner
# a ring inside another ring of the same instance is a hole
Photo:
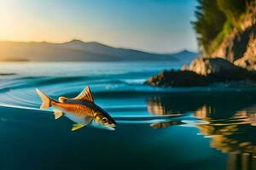
[[[111,130],[114,130],[116,122],[111,116],[108,115],[105,111],[96,111],[95,113],[95,122],[96,124],[101,124],[103,127],[108,127]]]

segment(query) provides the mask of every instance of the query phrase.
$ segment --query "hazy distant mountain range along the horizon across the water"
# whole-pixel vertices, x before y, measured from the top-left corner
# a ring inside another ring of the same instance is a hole
[[[73,40],[64,43],[0,42],[0,60],[30,61],[143,61],[190,60],[196,53],[183,50],[177,54],[152,54],[135,49],[113,48],[99,42]]]

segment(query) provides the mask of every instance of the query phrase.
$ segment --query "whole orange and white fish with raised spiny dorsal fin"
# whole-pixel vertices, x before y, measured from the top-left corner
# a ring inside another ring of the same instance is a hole
[[[58,119],[61,116],[67,116],[67,118],[75,122],[71,129],[72,131],[78,130],[91,122],[96,122],[96,124],[99,124],[102,127],[108,127],[110,130],[115,130],[114,127],[116,126],[116,122],[107,111],[95,104],[89,86],[86,86],[75,98],[68,99],[61,96],[58,101],[49,98],[49,96],[44,94],[38,88],[36,88],[36,92],[42,99],[40,109],[54,107],[55,119]]]

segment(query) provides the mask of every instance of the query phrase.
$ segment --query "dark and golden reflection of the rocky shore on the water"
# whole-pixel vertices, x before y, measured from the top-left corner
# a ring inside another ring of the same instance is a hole
[[[183,117],[206,123],[195,124],[200,135],[210,137],[212,148],[230,153],[228,169],[256,169],[255,94],[166,96],[147,100],[153,115],[182,114],[180,120],[151,125],[164,128],[183,124]]]

